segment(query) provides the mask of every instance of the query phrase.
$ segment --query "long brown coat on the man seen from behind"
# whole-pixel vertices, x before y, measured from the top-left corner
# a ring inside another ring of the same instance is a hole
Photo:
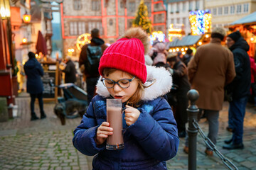
[[[223,107],[224,86],[233,81],[235,65],[233,54],[213,38],[209,44],[198,47],[188,63],[191,89],[199,92],[198,108],[220,111]]]

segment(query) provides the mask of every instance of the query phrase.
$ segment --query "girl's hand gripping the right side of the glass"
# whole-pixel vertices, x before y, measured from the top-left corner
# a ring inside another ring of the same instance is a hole
[[[127,125],[132,125],[139,118],[140,112],[137,108],[133,108],[131,106],[125,106],[125,120]]]

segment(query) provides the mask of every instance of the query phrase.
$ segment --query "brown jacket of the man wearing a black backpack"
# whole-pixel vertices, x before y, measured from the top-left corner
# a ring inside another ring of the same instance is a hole
[[[101,38],[92,38],[92,40],[90,42],[90,45],[92,45],[92,46],[100,46],[102,48],[102,54],[103,54],[103,52],[107,48],[107,45],[105,45],[104,40],[102,40]],[[82,64],[85,64],[85,62],[88,62],[88,59],[87,59],[87,47],[88,47],[88,45],[84,45],[82,47],[82,50],[81,50],[81,53],[80,53],[80,57],[79,57],[79,67],[81,67]],[[95,72],[95,74],[88,74],[86,72],[86,69],[85,69],[84,74],[85,74],[85,76],[87,78],[90,78],[90,77],[100,77],[100,73],[99,72]]]

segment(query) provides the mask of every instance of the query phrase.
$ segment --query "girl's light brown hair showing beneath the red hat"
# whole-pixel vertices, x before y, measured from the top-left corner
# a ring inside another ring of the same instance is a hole
[[[108,76],[112,72],[115,72],[117,70],[119,70],[119,69],[105,68],[105,69],[103,69],[103,75]],[[129,74],[127,72],[124,72],[124,73],[130,75],[131,78],[133,77],[132,74]],[[132,97],[128,99],[127,105],[132,106],[132,107],[139,107],[139,101],[142,100],[142,95],[143,95],[143,92],[144,92],[144,86],[142,84],[142,81],[140,79],[138,79],[137,77],[135,77],[134,80],[138,81],[139,84],[137,86],[137,90],[135,91],[134,95],[132,95]]]

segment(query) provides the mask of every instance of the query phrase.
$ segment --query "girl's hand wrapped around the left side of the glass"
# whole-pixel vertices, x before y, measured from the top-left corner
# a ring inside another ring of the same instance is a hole
[[[110,128],[110,123],[108,122],[103,122],[99,128],[97,128],[97,133],[96,133],[96,144],[97,145],[102,145],[107,137],[109,135],[113,134],[113,128]]]

